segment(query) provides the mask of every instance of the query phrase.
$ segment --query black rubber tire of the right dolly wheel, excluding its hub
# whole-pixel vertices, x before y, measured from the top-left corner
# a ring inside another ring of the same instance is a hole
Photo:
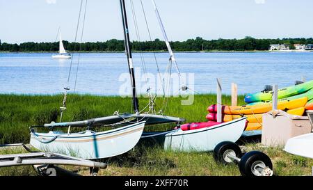
[[[273,170],[272,161],[267,155],[265,155],[263,152],[251,151],[243,155],[241,161],[239,162],[239,170],[241,175],[249,177],[258,176],[255,175],[255,173],[252,171],[253,165],[257,164],[258,162],[262,162],[266,167]]]

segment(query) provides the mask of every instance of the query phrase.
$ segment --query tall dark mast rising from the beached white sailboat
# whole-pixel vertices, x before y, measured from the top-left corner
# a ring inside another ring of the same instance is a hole
[[[120,0],[120,9],[121,9],[121,13],[122,13],[122,23],[123,23],[123,29],[124,29],[125,50],[126,50],[126,54],[127,54],[129,74],[130,74],[130,78],[131,78],[133,107],[134,107],[134,112],[138,113],[139,112],[139,104],[138,104],[138,97],[137,97],[137,93],[136,93],[134,65],[133,65],[133,59],[131,56],[131,47],[130,47],[130,40],[129,40],[129,29],[128,29],[128,24],[127,24],[125,0]]]

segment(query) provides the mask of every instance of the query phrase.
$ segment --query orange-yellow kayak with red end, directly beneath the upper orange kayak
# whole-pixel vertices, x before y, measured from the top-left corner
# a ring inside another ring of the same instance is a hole
[[[304,107],[296,108],[296,109],[290,109],[287,111],[287,113],[295,116],[303,116],[303,113],[305,112]],[[223,115],[223,122],[229,122],[231,120],[236,120],[238,118],[247,117],[248,122],[262,122],[262,115],[264,113],[258,113],[258,114],[247,114],[247,115]],[[208,120],[216,121],[216,113],[209,113],[207,115]]]

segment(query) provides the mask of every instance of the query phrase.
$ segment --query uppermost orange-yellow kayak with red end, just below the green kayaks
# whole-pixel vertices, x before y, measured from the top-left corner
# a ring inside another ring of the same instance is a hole
[[[304,107],[307,104],[307,97],[301,97],[296,100],[289,100],[278,102],[278,109],[288,111],[290,109],[296,109]],[[222,112],[229,115],[241,115],[241,114],[257,114],[266,113],[272,110],[272,104],[257,104],[252,106],[222,106]],[[209,112],[213,113],[217,111],[217,106],[209,106]]]

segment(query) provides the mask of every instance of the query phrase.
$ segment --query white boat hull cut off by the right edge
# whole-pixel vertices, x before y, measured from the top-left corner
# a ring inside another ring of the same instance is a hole
[[[284,151],[313,159],[313,133],[289,138],[284,146]]]

